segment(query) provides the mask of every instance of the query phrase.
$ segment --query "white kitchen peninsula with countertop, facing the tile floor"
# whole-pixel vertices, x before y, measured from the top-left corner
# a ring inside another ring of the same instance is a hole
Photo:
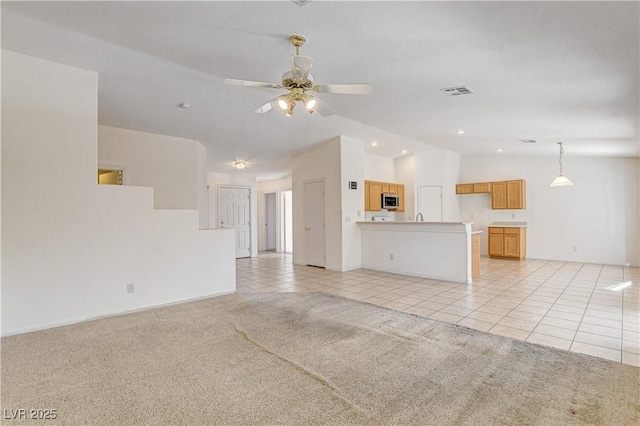
[[[358,222],[362,267],[471,284],[473,222]],[[476,244],[476,250],[479,250]],[[477,256],[476,256],[477,257]],[[477,262],[477,261],[476,261]],[[476,270],[479,265],[476,265]]]

